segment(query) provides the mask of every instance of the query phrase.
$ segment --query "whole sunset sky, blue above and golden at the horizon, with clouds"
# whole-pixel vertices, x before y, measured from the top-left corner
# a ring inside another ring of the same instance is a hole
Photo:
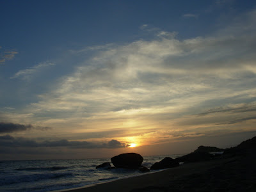
[[[255,23],[255,1],[0,0],[0,159],[256,136]]]

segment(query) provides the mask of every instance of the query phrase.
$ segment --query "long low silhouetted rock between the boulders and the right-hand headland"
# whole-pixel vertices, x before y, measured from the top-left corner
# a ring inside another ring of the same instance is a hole
[[[191,163],[191,162],[199,162],[199,161],[208,161],[214,157],[213,154],[209,154],[207,152],[192,152],[188,155],[178,157],[175,160],[184,163]]]

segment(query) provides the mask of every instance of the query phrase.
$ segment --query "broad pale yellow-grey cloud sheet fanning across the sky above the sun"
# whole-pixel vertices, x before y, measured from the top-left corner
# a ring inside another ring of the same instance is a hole
[[[157,29],[151,40],[70,51],[68,61],[82,58],[76,68],[25,112],[61,131],[182,129],[203,135],[223,126],[238,130],[245,122],[243,129],[252,131],[253,106],[234,106],[256,100],[255,21],[252,10],[208,36],[179,39],[175,32]]]

